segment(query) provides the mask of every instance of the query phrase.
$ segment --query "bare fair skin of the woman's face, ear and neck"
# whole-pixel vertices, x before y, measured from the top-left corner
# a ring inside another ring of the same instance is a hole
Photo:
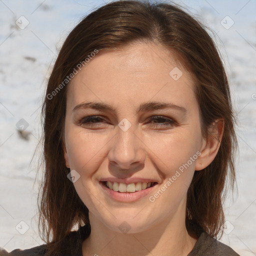
[[[182,71],[174,80],[169,72]],[[98,53],[72,79],[67,90],[64,131],[66,166],[80,177],[73,183],[89,209],[91,234],[83,241],[83,255],[187,255],[197,238],[185,228],[186,192],[194,171],[215,157],[222,135],[216,122],[204,139],[192,75],[173,53],[151,43],[137,43],[116,51]],[[73,108],[83,102],[107,103],[116,112]],[[156,109],[137,112],[140,104],[171,102],[186,109]],[[80,123],[99,115],[103,120]],[[154,123],[150,116],[174,119]],[[131,126],[123,131],[118,123],[126,118]],[[83,119],[84,120],[84,119]],[[153,202],[155,194],[175,171],[196,152],[185,171]],[[155,180],[152,191],[132,202],[119,202],[99,184],[102,177],[140,177]],[[129,231],[118,226],[126,221]]]

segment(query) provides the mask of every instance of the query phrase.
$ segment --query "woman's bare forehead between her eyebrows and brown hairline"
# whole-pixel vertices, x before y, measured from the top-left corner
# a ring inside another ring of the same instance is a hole
[[[71,105],[85,100],[124,104],[150,98],[194,100],[192,75],[176,54],[152,43],[97,53],[74,76],[67,93]]]

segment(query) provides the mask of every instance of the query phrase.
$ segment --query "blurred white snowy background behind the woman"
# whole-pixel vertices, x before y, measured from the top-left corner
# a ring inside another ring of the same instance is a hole
[[[240,255],[256,255],[256,2],[176,2],[214,31],[225,60],[239,120],[239,156],[238,192],[225,203],[227,228],[221,241]],[[102,4],[100,0],[0,0],[0,246],[8,251],[42,243],[35,215],[37,158],[31,159],[41,131],[45,80],[65,36],[82,16]],[[29,24],[21,29],[15,21],[21,28]],[[31,132],[28,140],[17,133],[21,118]]]

